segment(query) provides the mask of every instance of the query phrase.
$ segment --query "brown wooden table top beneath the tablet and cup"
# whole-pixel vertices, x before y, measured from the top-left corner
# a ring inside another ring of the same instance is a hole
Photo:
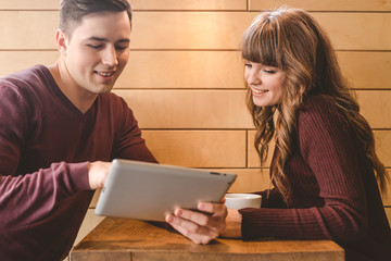
[[[71,251],[71,261],[342,261],[344,250],[331,240],[242,241],[217,238],[197,245],[149,222],[105,217]]]

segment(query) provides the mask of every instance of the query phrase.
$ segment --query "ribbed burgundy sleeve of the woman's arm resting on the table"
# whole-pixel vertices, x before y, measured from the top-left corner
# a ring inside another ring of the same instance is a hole
[[[366,231],[362,171],[349,124],[317,100],[299,113],[300,153],[318,184],[324,204],[292,209],[243,209],[243,239],[277,237],[351,241]],[[300,171],[300,170],[298,170]],[[288,173],[301,178],[300,173]],[[305,186],[305,185],[304,185]],[[305,199],[304,199],[305,200]]]

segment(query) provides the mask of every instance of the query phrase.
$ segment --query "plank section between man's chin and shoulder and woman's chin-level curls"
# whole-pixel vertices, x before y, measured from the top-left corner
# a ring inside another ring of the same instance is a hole
[[[245,90],[114,90],[142,128],[252,127]]]

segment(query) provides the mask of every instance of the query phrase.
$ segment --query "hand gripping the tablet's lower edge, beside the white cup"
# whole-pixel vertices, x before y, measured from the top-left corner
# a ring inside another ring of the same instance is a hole
[[[198,209],[211,215],[186,209],[176,209],[166,222],[195,244],[207,244],[226,227],[227,208],[224,203],[201,202]]]

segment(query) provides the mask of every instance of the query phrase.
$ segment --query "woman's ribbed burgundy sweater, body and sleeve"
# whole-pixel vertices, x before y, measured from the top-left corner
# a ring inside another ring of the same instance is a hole
[[[269,197],[258,192],[261,209],[240,210],[243,239],[332,239],[346,260],[391,260],[375,174],[348,122],[327,98],[315,96],[300,110],[298,124],[286,165],[292,203],[285,207],[276,188]]]

